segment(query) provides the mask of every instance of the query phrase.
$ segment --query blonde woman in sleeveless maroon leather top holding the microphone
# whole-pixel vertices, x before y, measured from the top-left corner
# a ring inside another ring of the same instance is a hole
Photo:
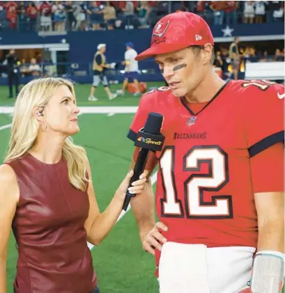
[[[132,171],[100,213],[79,132],[75,91],[61,78],[36,79],[22,88],[5,164],[0,166],[0,292],[12,226],[19,258],[15,293],[98,293],[91,253],[121,212]],[[146,178],[130,187],[141,193]]]

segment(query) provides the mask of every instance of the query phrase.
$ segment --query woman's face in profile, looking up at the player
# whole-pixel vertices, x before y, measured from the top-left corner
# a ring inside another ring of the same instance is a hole
[[[77,114],[79,109],[67,86],[59,86],[43,111],[47,129],[63,136],[79,132]]]

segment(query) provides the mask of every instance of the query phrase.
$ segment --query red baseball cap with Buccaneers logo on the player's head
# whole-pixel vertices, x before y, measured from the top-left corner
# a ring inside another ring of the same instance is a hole
[[[151,47],[135,58],[137,61],[157,54],[178,51],[189,46],[214,45],[214,38],[205,20],[197,14],[179,11],[155,24]]]

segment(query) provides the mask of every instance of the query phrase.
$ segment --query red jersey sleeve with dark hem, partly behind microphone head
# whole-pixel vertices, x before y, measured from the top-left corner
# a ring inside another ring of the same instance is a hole
[[[155,95],[155,93],[146,93],[145,95],[141,96],[141,100],[139,100],[137,113],[134,115],[134,119],[132,120],[132,124],[130,125],[130,129],[127,135],[127,137],[132,141],[135,141],[139,129],[144,127],[146,118],[148,118],[148,113],[153,111],[153,109],[151,109],[152,100],[154,97],[153,95]]]

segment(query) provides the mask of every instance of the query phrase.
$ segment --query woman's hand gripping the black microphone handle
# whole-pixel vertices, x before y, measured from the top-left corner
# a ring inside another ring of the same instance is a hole
[[[132,182],[132,187],[129,187],[130,179],[132,178],[132,175],[134,175],[134,171],[130,171],[127,176],[125,176],[125,179],[118,187],[118,190],[116,191],[116,197],[120,198],[120,200],[125,200],[125,193],[127,193],[127,190],[134,195],[141,194],[146,189],[146,175],[147,172],[144,171],[139,176],[139,180]]]

